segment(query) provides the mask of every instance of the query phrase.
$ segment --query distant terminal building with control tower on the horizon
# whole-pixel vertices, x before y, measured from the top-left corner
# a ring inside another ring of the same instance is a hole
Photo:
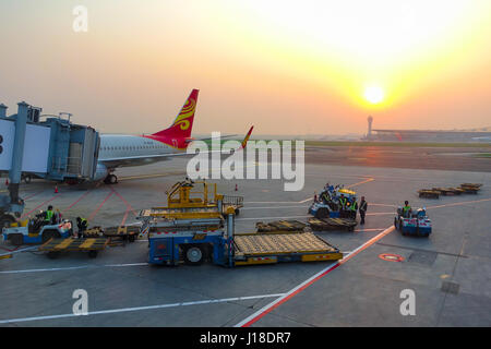
[[[474,130],[380,130],[372,129],[373,118],[368,118],[368,141],[391,142],[491,142],[491,128]]]

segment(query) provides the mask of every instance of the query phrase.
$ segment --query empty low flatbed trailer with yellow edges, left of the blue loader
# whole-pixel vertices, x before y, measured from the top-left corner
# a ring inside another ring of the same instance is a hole
[[[95,258],[99,251],[106,249],[109,243],[107,238],[67,238],[49,239],[38,248],[38,251],[46,252],[49,258],[56,258],[63,252],[87,252],[88,257]]]

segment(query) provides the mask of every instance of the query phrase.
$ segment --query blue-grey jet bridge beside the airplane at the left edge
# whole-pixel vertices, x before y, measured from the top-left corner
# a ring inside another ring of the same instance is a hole
[[[43,116],[41,108],[25,101],[17,104],[15,115],[8,117],[7,109],[0,104],[0,173],[9,176],[9,195],[0,195],[0,228],[14,220],[10,214],[19,217],[24,209],[19,196],[22,176],[53,181],[91,180],[100,143],[96,130],[72,123],[71,115]]]

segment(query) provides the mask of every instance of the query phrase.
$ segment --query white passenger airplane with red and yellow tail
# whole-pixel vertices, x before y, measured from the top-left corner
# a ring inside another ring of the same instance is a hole
[[[173,157],[189,156],[190,154],[185,152],[188,145],[197,141],[191,136],[197,94],[199,89],[191,92],[168,129],[148,135],[101,134],[94,181],[116,184],[118,177],[113,172],[118,167],[142,166],[169,160]],[[240,148],[246,147],[252,129],[253,127],[249,130]],[[232,135],[225,137],[230,136]],[[209,139],[200,141],[205,140]]]

